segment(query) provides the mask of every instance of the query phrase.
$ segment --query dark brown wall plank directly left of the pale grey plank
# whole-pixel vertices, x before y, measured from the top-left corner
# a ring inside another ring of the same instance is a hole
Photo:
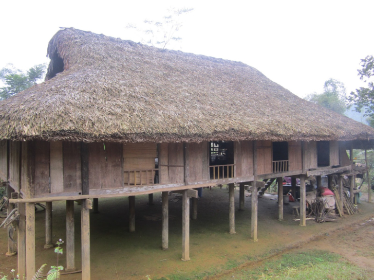
[[[35,194],[49,193],[49,142],[35,141]]]

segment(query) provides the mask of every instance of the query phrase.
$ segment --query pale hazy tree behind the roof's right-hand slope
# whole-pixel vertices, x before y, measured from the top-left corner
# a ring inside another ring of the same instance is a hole
[[[341,115],[344,115],[347,109],[345,105],[346,89],[342,82],[335,79],[329,79],[325,82],[321,94],[314,92],[305,97],[305,99]]]

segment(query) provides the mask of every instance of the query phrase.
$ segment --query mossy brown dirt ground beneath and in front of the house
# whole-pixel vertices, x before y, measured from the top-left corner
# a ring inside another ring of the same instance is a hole
[[[236,190],[236,208],[239,190]],[[175,195],[169,196],[170,199]],[[236,232],[228,234],[228,192],[226,189],[204,189],[199,200],[198,220],[190,221],[191,261],[182,262],[182,205],[169,201],[169,249],[161,250],[161,195],[154,194],[154,205],[147,205],[148,196],[136,197],[136,232],[128,231],[128,199],[99,201],[98,214],[91,214],[91,275],[102,279],[193,279],[214,277],[236,267],[257,265],[290,249],[328,249],[348,260],[373,268],[374,204],[361,199],[360,213],[345,215],[337,222],[317,224],[307,221],[300,227],[292,221],[292,206],[284,206],[284,221],[278,221],[275,195],[259,198],[259,241],[250,239],[250,197],[245,197],[245,210],[236,211]],[[54,203],[54,241],[65,239],[65,204]],[[54,265],[53,249],[44,249],[44,211],[36,212],[37,266]],[[76,267],[80,268],[80,206],[75,204]],[[335,250],[335,251],[334,251]],[[17,257],[5,257],[6,230],[0,230],[0,272],[17,268]],[[61,264],[65,265],[65,255]],[[254,262],[255,261],[255,262]],[[115,271],[116,270],[116,271]],[[79,280],[81,275],[64,275],[62,280]],[[217,278],[219,279],[219,278]]]

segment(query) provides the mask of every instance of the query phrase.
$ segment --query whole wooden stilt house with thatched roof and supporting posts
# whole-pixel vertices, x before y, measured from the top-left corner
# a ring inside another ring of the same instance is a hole
[[[66,200],[67,264],[74,263],[74,200],[82,201],[82,279],[90,279],[91,200],[163,192],[162,246],[168,248],[168,191],[183,193],[182,259],[189,259],[193,189],[252,185],[252,238],[263,180],[350,174],[346,150],[372,147],[374,130],[300,99],[241,62],[161,50],[64,28],[48,45],[45,82],[0,102],[0,178],[18,208],[19,273],[35,273],[34,204]],[[281,185],[281,184],[280,184]],[[17,197],[15,197],[17,196]],[[280,197],[281,199],[281,197]],[[280,213],[282,218],[282,213]],[[51,245],[52,231],[46,233]],[[160,241],[161,242],[161,241]],[[9,252],[12,253],[12,252]]]

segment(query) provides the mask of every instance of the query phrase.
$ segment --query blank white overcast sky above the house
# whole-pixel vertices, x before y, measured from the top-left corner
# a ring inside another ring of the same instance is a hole
[[[347,93],[363,86],[360,59],[374,54],[373,0],[20,0],[0,3],[0,69],[49,62],[60,26],[138,42],[126,25],[172,6],[194,8],[179,33],[181,51],[242,61],[300,97],[320,93],[329,78]]]

